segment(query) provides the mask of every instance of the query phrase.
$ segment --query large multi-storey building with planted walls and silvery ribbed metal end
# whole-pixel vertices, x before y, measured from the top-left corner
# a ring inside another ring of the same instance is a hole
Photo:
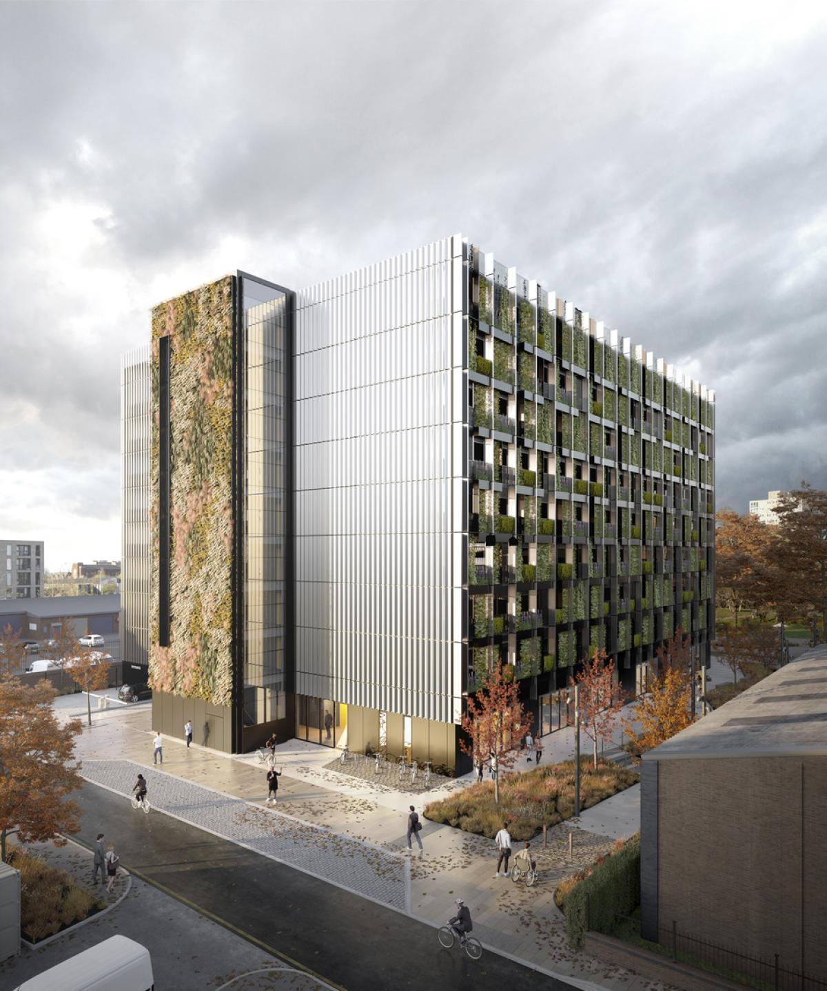
[[[465,239],[153,337],[156,725],[454,764],[494,664],[545,733],[594,647],[631,690],[677,627],[708,656],[713,393]]]

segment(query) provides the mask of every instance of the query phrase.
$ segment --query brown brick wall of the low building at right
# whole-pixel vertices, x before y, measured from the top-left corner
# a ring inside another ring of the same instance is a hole
[[[661,933],[674,920],[678,932],[762,959],[778,953],[782,967],[827,979],[827,759],[658,763]]]

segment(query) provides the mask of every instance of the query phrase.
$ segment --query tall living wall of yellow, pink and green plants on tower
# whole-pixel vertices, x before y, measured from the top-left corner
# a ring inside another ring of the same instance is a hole
[[[232,699],[233,416],[232,277],[202,285],[152,312],[153,402],[159,401],[159,340],[169,337],[174,471],[170,488],[170,645],[159,639],[157,541],[151,542],[150,684],[227,706]],[[152,421],[150,528],[159,518],[159,427]]]

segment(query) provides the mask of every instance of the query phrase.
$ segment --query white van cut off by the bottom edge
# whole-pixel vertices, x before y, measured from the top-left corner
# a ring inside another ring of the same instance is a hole
[[[15,991],[153,991],[152,960],[146,946],[110,936],[70,956]]]

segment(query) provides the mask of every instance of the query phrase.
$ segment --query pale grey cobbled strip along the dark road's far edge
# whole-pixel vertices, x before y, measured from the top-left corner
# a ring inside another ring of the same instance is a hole
[[[131,760],[86,760],[81,773],[87,781],[128,797],[139,771],[147,779],[153,810],[170,813],[359,895],[406,910],[406,865],[398,855]]]

